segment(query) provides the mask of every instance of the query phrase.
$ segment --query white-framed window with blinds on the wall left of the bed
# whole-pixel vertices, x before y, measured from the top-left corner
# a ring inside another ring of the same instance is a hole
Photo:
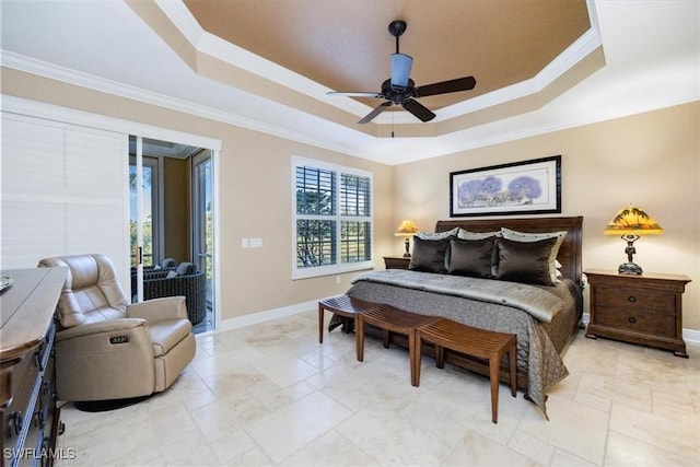
[[[372,174],[292,157],[294,279],[372,265]]]

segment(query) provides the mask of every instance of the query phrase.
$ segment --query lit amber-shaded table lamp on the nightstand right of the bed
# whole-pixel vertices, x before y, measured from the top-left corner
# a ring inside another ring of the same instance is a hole
[[[632,261],[632,255],[637,253],[634,242],[640,240],[641,235],[657,235],[664,232],[656,221],[652,219],[642,208],[630,206],[623,208],[615,214],[615,218],[605,227],[606,235],[620,235],[627,247],[627,262],[622,262],[617,269],[621,275],[641,275],[642,268]]]

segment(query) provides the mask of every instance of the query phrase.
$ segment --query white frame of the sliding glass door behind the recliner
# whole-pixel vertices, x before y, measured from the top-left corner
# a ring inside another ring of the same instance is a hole
[[[219,192],[219,161],[220,161],[220,151],[222,141],[214,138],[203,137],[200,135],[188,133],[184,131],[172,130],[168,128],[156,127],[153,125],[141,124],[138,121],[126,120],[121,118],[107,117],[100,114],[93,114],[90,112],[78,110],[70,107],[62,107],[52,104],[46,104],[38,101],[31,101],[23,97],[3,95],[2,96],[2,112],[10,114],[19,114],[25,115],[30,117],[44,118],[48,120],[55,120],[66,124],[79,125],[82,127],[96,128],[100,130],[113,131],[117,133],[124,135],[125,138],[125,148],[129,147],[129,135],[140,136],[142,138],[149,138],[154,140],[163,140],[163,141],[172,141],[180,144],[187,144],[198,148],[208,149],[211,151],[212,163],[213,163],[213,202],[214,202],[214,222],[213,222],[213,233],[214,233],[214,329],[218,329],[221,322],[221,296],[220,296],[220,282],[221,282],[221,273],[220,273],[220,258],[219,258],[219,238],[221,237],[219,232],[219,206],[220,203],[220,192]],[[125,189],[125,212],[124,212],[124,229],[122,235],[125,237],[126,245],[129,245],[129,157],[128,150],[126,150],[126,159],[124,164],[126,167],[124,177],[124,189]],[[130,252],[129,248],[126,248],[124,252],[122,261],[125,265],[130,265]],[[128,280],[130,278],[130,271],[121,271],[121,277],[127,280],[124,281],[122,287],[127,291],[127,295],[131,293],[131,284]]]

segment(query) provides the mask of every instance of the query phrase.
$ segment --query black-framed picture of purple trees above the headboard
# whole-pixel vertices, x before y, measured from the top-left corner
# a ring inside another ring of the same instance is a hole
[[[561,155],[450,173],[450,217],[561,213]]]

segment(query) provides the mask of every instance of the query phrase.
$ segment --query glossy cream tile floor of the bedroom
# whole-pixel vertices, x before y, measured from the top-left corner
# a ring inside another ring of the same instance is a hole
[[[327,314],[328,315],[328,314]],[[164,394],[112,412],[62,408],[59,466],[667,466],[700,465],[700,345],[690,359],[591,340],[564,355],[550,420],[501,385],[354,336],[317,341],[317,315],[198,336],[195,361]]]

